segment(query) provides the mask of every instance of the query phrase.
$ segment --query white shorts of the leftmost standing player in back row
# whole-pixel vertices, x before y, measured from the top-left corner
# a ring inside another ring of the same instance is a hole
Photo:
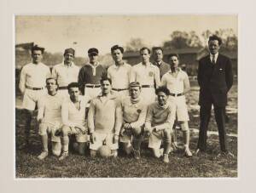
[[[46,94],[45,89],[32,90],[26,88],[22,102],[23,109],[34,111],[38,104],[38,99],[40,99],[44,94]]]

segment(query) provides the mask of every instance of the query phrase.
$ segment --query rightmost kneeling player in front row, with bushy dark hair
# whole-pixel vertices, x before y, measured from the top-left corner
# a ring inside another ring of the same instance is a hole
[[[171,150],[175,106],[167,102],[170,94],[168,88],[157,88],[155,94],[157,94],[158,102],[148,106],[145,122],[145,131],[149,134],[148,147],[153,150],[155,157],[163,156],[163,161],[169,162],[168,154]],[[162,142],[164,149],[160,149]]]

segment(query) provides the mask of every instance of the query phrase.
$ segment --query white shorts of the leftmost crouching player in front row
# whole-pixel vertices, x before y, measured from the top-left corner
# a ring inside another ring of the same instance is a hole
[[[55,123],[41,122],[39,124],[38,134],[39,135],[46,135],[46,134],[50,133],[51,134],[51,141],[61,142],[61,137],[60,136],[55,136],[55,132],[59,128],[61,128],[61,122],[55,122]]]

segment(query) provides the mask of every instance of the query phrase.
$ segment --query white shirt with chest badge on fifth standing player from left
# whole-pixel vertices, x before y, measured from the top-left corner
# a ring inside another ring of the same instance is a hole
[[[131,82],[140,82],[141,85],[160,86],[160,70],[157,66],[148,63],[144,65],[142,62],[131,67]]]

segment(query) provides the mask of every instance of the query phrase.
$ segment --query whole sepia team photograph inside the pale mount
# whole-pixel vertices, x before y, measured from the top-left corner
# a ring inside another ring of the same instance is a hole
[[[15,15],[15,178],[237,178],[236,14]]]

